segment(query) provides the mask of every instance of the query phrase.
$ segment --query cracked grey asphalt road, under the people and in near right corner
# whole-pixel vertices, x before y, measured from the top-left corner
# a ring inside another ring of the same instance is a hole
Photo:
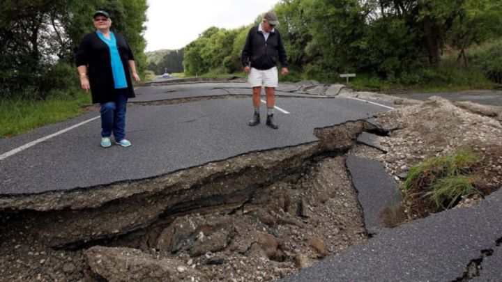
[[[249,91],[250,92],[250,91]],[[54,136],[0,160],[0,198],[68,191],[162,175],[256,150],[317,141],[314,128],[371,118],[385,108],[342,97],[278,91],[279,130],[248,127],[251,99],[197,100],[183,104],[134,102],[248,94],[245,84],[147,86],[130,100],[130,148],[99,146],[100,120]],[[295,96],[295,97],[285,97]],[[264,109],[264,108],[262,108]],[[0,140],[0,154],[98,116],[87,113],[29,134]],[[366,171],[367,175],[377,171]],[[357,187],[356,187],[357,188]],[[453,281],[481,260],[477,281],[501,281],[502,191],[469,209],[433,214],[384,229],[365,244],[327,258],[286,281]],[[492,256],[482,256],[491,250]]]

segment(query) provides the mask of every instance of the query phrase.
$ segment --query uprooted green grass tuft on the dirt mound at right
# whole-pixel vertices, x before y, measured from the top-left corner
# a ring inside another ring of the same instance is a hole
[[[479,180],[471,172],[480,160],[471,150],[462,149],[443,157],[431,157],[413,166],[401,191],[413,214],[425,216],[456,205],[462,196],[482,194]]]

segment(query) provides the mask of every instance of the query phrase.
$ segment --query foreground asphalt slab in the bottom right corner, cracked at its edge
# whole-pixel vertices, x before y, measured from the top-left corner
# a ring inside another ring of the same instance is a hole
[[[481,281],[500,281],[502,190],[471,208],[456,208],[393,229],[282,281],[458,281],[483,258]],[[483,271],[484,263],[487,271]]]

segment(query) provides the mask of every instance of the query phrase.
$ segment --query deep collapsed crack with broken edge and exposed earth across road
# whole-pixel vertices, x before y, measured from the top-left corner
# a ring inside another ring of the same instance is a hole
[[[317,129],[319,141],[301,146],[144,180],[2,198],[0,277],[99,280],[112,278],[112,269],[131,275],[116,252],[138,250],[144,269],[169,260],[162,267],[177,270],[162,273],[173,279],[188,279],[179,267],[199,281],[294,273],[367,239],[344,153],[372,130],[348,122]],[[96,264],[111,253],[111,265]],[[152,273],[135,275],[154,279]]]

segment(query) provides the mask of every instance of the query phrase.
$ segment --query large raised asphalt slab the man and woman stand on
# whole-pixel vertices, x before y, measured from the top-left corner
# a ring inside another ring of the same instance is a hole
[[[248,152],[314,142],[318,140],[315,128],[386,110],[344,98],[278,99],[277,106],[291,113],[276,111],[279,130],[247,125],[252,114],[249,99],[129,107],[130,148],[100,148],[100,120],[93,120],[0,161],[0,194],[37,194],[151,178]],[[40,130],[54,133],[50,128]],[[22,136],[20,140],[33,141]],[[6,139],[0,141],[1,148],[3,143],[12,146]]]

